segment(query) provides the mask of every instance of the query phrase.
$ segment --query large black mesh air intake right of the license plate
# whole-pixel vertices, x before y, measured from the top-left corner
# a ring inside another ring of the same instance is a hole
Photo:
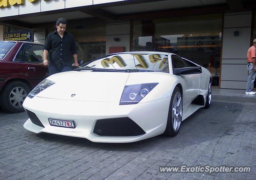
[[[145,131],[128,117],[97,120],[93,132],[100,136],[138,136],[145,134]]]

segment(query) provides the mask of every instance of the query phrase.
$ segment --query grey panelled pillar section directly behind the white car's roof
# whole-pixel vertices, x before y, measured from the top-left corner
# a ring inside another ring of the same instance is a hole
[[[109,47],[124,47],[124,51],[130,51],[130,22],[107,24],[106,26],[106,55]],[[118,38],[119,41],[114,41]]]

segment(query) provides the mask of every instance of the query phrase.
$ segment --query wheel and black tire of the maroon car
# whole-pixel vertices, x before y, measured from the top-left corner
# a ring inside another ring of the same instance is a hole
[[[21,81],[13,81],[3,87],[0,95],[1,107],[9,113],[24,111],[22,103],[30,92],[28,85]]]

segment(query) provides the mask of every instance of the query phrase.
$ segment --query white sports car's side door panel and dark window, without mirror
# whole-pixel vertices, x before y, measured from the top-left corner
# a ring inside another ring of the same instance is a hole
[[[184,68],[191,67],[192,63],[179,57],[178,55],[172,55],[172,68]],[[189,105],[199,93],[200,76],[199,74],[186,74],[177,75],[180,81],[183,82],[183,103],[184,107]]]

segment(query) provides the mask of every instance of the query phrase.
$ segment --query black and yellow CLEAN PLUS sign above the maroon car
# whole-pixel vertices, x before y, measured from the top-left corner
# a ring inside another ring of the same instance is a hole
[[[32,42],[32,31],[7,32],[4,34],[5,41],[28,41]]]

